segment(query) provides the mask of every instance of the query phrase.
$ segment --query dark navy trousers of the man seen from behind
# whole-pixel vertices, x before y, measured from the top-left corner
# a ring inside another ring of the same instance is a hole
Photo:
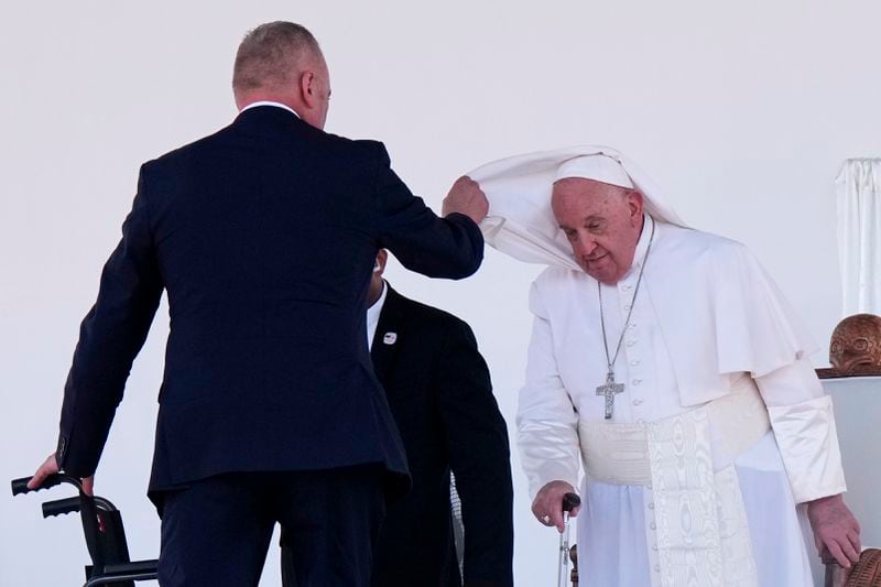
[[[296,587],[367,587],[384,515],[382,469],[226,474],[162,496],[162,587],[257,586],[275,523]]]

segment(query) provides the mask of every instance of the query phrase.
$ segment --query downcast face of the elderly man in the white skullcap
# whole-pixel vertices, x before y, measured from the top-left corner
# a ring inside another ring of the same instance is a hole
[[[575,177],[556,182],[551,197],[575,260],[585,273],[609,285],[633,264],[642,204],[637,191]]]

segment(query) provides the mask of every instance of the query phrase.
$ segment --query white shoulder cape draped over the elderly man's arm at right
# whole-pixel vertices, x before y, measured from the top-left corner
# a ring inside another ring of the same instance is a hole
[[[659,225],[644,279],[651,282],[683,406],[726,394],[731,374],[747,371],[762,377],[815,350],[746,247],[707,232]]]

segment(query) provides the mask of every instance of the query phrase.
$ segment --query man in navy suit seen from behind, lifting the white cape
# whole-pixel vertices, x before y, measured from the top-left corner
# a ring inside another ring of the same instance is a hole
[[[141,169],[31,487],[94,474],[165,290],[161,585],[257,585],[276,522],[298,587],[367,585],[385,498],[409,485],[363,335],[371,268],[389,248],[429,276],[474,273],[486,198],[463,178],[438,218],[381,143],[325,133],[327,65],[297,24],[250,32],[232,86],[235,122]]]

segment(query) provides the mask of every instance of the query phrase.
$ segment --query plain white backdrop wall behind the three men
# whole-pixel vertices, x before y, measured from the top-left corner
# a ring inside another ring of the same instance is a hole
[[[279,19],[324,45],[328,130],[385,141],[435,209],[457,175],[488,160],[614,145],[686,221],[749,244],[827,346],[841,307],[833,182],[844,159],[881,153],[873,0],[3,2],[0,480],[31,474],[54,447],[78,324],[138,165],[231,120],[236,45]],[[474,326],[509,425],[539,271],[494,251],[465,282],[389,271],[405,294]],[[97,480],[140,557],[159,547],[144,488],[166,333],[163,305]],[[516,581],[548,584],[555,534],[531,519],[516,456],[513,467]],[[43,521],[40,499],[6,496],[0,585],[76,584],[77,520]],[[274,550],[269,561],[263,585],[279,585]]]

